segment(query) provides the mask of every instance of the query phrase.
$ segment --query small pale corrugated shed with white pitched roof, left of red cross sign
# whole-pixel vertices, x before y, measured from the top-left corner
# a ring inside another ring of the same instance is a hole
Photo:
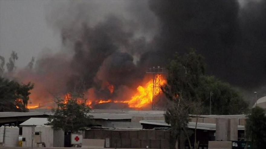
[[[47,118],[30,118],[20,124],[22,127],[22,147],[64,147],[64,131],[54,130],[47,125]]]

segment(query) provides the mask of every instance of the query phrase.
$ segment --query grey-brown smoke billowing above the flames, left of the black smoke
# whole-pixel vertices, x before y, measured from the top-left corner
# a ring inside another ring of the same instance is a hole
[[[145,74],[138,58],[157,30],[148,1],[53,2],[47,10],[48,24],[61,32],[62,52],[72,55],[67,91],[95,99],[130,98]]]

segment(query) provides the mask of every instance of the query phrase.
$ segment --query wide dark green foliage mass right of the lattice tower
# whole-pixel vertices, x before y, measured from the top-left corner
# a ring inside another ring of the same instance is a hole
[[[176,55],[168,67],[167,85],[162,88],[167,99],[172,101],[178,95],[187,101],[201,101],[203,114],[209,114],[212,92],[212,114],[243,114],[248,110],[248,103],[229,83],[204,72],[203,57],[195,51]]]

